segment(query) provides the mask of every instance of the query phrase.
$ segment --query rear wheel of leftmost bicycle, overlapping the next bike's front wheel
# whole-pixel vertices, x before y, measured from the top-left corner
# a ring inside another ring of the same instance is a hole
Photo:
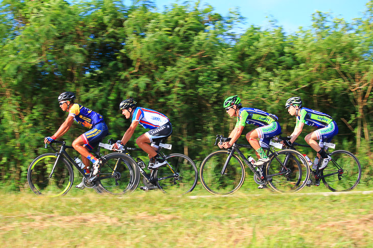
[[[123,153],[110,153],[104,157],[95,190],[100,194],[129,194],[139,184],[139,172],[133,159]],[[112,175],[114,177],[110,177]],[[107,178],[108,177],[108,178]]]

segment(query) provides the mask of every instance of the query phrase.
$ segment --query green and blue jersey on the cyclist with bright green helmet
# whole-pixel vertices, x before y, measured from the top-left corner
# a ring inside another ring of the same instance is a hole
[[[237,116],[236,128],[239,126],[245,127],[246,124],[263,127],[277,121],[277,119],[277,116],[264,112],[260,109],[241,108],[239,116]]]

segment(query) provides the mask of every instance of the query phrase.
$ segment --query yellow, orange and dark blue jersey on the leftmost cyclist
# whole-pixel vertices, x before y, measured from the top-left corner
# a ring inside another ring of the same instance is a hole
[[[69,116],[73,116],[76,122],[86,128],[92,128],[92,126],[104,121],[102,115],[80,104],[74,104],[68,112]]]

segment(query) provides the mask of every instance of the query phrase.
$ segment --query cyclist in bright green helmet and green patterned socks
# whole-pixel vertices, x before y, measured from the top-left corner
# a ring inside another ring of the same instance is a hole
[[[242,134],[245,125],[252,124],[259,127],[246,134],[247,141],[254,148],[259,158],[253,165],[262,166],[267,163],[269,158],[262,147],[267,148],[271,138],[281,133],[277,116],[260,109],[242,107],[238,95],[226,98],[223,107],[230,117],[237,117],[237,122],[235,128],[229,134],[230,141],[219,144],[219,147],[229,148],[232,146]]]

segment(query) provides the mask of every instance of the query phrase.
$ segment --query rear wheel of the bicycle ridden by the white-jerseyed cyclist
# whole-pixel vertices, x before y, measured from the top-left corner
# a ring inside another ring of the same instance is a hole
[[[173,171],[168,165],[158,168],[155,173],[158,188],[175,195],[191,192],[198,181],[198,170],[193,160],[176,153],[166,157],[166,160]]]

